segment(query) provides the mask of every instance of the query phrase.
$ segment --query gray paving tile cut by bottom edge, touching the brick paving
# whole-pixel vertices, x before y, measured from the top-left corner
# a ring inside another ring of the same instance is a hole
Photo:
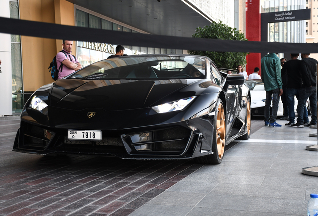
[[[172,206],[172,205],[160,205],[160,204],[145,204],[142,208],[129,214],[130,216],[185,216],[193,207],[186,206]]]

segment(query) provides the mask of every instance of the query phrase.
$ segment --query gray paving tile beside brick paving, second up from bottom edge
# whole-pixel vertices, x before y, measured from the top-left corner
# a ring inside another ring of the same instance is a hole
[[[202,193],[165,191],[149,201],[149,204],[194,207],[204,196]]]

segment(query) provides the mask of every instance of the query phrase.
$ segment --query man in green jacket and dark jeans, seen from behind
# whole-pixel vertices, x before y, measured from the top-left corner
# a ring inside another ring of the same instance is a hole
[[[261,78],[264,82],[266,91],[266,103],[264,111],[265,126],[281,127],[280,124],[276,123],[279,99],[283,92],[280,59],[277,54],[269,53],[261,59]],[[272,112],[270,115],[271,98]]]

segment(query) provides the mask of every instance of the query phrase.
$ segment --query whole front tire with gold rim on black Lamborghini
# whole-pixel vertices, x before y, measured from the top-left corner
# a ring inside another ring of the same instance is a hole
[[[212,152],[202,157],[194,158],[195,162],[202,164],[220,164],[225,152],[225,137],[226,137],[226,114],[221,99],[217,100],[214,116],[214,135],[212,143]]]

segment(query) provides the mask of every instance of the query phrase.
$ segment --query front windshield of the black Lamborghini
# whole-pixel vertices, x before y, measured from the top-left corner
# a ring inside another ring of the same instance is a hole
[[[67,79],[204,79],[205,58],[192,56],[134,55],[93,63]]]

